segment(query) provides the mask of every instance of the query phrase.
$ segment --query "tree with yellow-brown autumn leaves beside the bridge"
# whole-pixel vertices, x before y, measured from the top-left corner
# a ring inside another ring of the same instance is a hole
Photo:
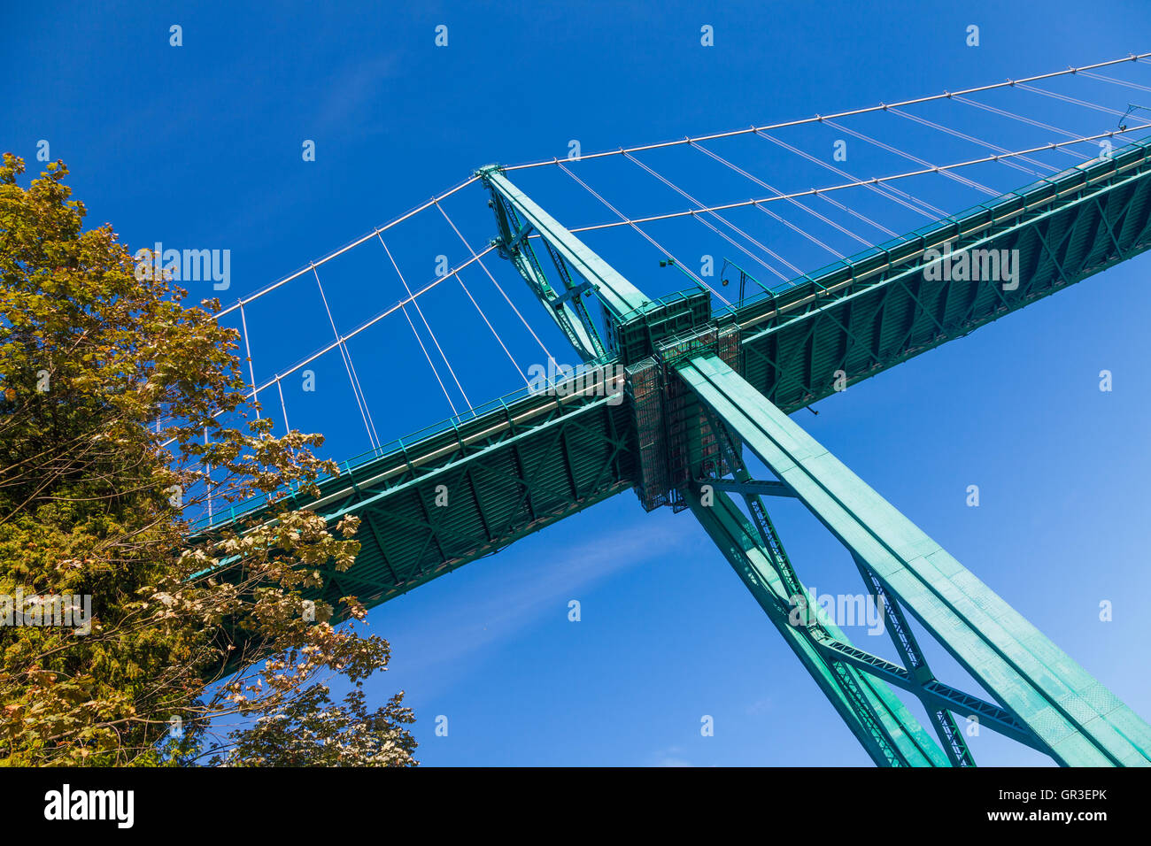
[[[62,162],[26,189],[23,172],[5,154],[0,763],[416,763],[403,693],[365,704],[389,649],[359,633],[363,607],[306,612],[320,569],[359,549],[355,518],[283,502],[338,473],[322,437],[252,419],[219,302],[185,305],[138,279],[109,224],[83,231]],[[190,538],[208,496],[267,497],[273,519]],[[351,687],[340,704],[331,678]]]

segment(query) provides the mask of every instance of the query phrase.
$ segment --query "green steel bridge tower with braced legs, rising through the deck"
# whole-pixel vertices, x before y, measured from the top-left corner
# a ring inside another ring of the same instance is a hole
[[[585,361],[626,368],[640,502],[692,510],[877,764],[974,765],[959,717],[1060,764],[1151,765],[1151,726],[739,375],[738,327],[716,322],[707,291],[648,298],[498,166],[478,174],[501,254]],[[777,479],[750,478],[745,444]],[[763,496],[796,497],[847,547],[902,664],[853,646],[823,612]],[[909,618],[996,701],[937,679]],[[923,703],[942,747],[892,687]]]

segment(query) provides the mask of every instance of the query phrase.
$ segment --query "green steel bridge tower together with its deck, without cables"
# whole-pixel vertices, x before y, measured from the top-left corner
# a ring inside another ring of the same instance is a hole
[[[318,498],[292,497],[363,520],[360,555],[325,574],[323,599],[386,602],[634,490],[649,511],[700,521],[876,764],[974,765],[960,727],[971,721],[1062,765],[1151,764],[1146,722],[788,417],[1145,251],[1151,140],[723,310],[698,289],[645,295],[506,170],[477,176],[498,253],[587,369],[345,463]],[[1017,251],[1019,284],[933,281],[925,270],[947,244]],[[753,478],[747,452],[772,478]],[[439,486],[453,491],[447,508]],[[853,645],[815,601],[770,517],[775,497],[801,502],[846,547],[901,663]],[[924,634],[991,700],[938,678]],[[893,688],[922,702],[931,731]]]

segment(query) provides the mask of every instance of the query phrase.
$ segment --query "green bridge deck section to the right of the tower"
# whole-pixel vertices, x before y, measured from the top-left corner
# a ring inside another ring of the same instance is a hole
[[[1151,139],[879,244],[775,296],[717,313],[744,338],[745,379],[786,412],[831,396],[1151,246]],[[924,253],[1007,250],[1017,287],[932,282]]]

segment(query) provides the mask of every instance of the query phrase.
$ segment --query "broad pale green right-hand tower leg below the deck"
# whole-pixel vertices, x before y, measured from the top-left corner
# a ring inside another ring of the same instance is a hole
[[[1026,727],[1032,745],[1064,765],[1151,764],[1146,723],[739,374],[712,355],[683,363],[678,373],[875,576],[884,594],[999,701],[1006,716],[994,727],[1008,734]],[[830,643],[823,651],[829,649],[855,669],[868,664],[882,673],[882,660]],[[895,669],[910,681],[906,670]],[[887,679],[897,677],[890,672]],[[956,710],[952,688],[937,681],[913,692],[943,710]],[[958,695],[959,712],[978,714],[989,706]]]

